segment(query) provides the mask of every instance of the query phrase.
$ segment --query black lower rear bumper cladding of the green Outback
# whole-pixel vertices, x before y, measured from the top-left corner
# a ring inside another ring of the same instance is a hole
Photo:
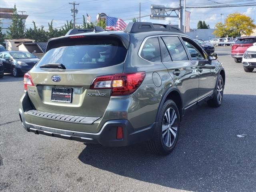
[[[24,113],[21,109],[19,109],[19,114],[20,120],[22,121],[22,126],[28,132],[34,132],[35,134],[43,134],[68,140],[76,140],[85,143],[102,144],[103,146],[128,146],[138,142],[150,140],[154,135],[156,127],[156,123],[154,122],[149,127],[134,130],[128,120],[119,119],[107,121],[98,133],[87,133],[31,124],[26,122]],[[117,127],[122,127],[122,139],[116,139]]]

